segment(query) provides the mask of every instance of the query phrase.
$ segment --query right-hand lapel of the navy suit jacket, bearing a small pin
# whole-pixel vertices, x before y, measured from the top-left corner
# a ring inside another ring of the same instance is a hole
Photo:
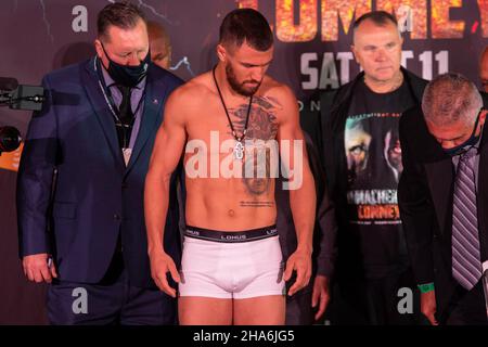
[[[160,93],[160,89],[158,89],[158,94],[156,94],[155,83],[156,81],[152,78],[150,69],[147,74],[147,82],[145,86],[144,110],[142,112],[141,126],[139,128],[136,143],[133,145],[132,155],[130,156],[129,164],[127,165],[126,175],[130,171],[130,169],[138,160],[150,136],[153,133],[154,128],[157,127],[157,120],[162,117],[162,104],[166,98],[166,90],[165,92]]]

